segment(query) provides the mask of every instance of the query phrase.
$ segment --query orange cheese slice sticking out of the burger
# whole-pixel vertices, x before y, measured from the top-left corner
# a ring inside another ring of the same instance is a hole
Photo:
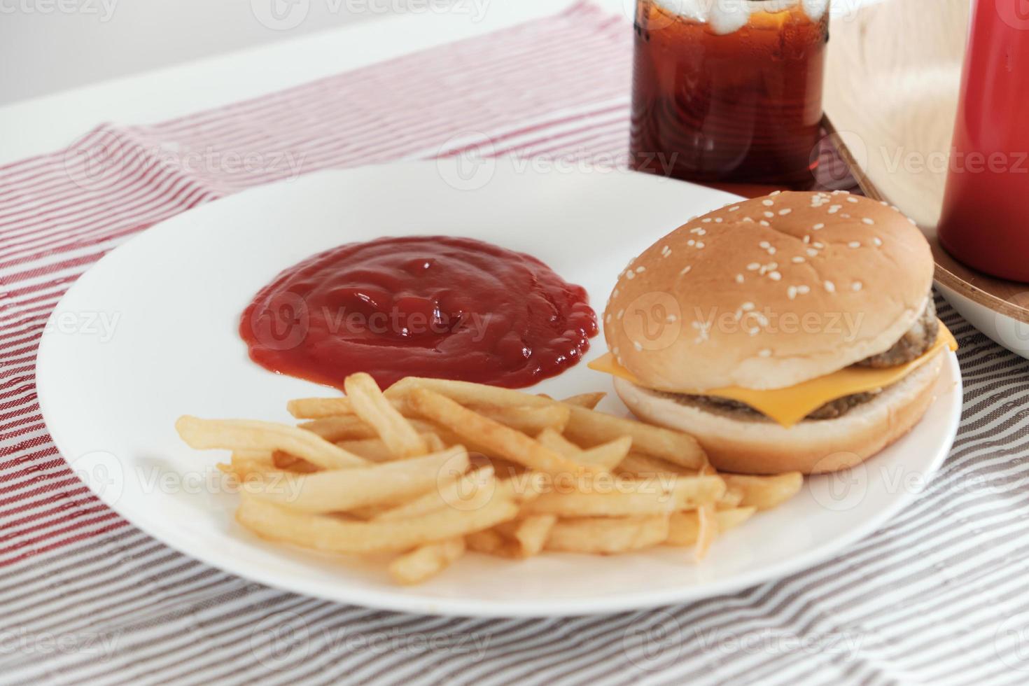
[[[713,395],[744,402],[762,414],[772,418],[784,427],[791,427],[805,417],[825,403],[855,393],[877,391],[896,384],[928,362],[933,355],[944,348],[952,351],[958,349],[958,342],[943,322],[939,322],[939,335],[936,342],[921,357],[895,367],[873,369],[871,367],[846,367],[825,376],[812,378],[788,388],[771,391],[756,391],[739,386],[728,386],[709,391],[671,391],[688,395]],[[591,369],[612,374],[639,384],[633,372],[629,371],[614,360],[608,353],[589,364]]]

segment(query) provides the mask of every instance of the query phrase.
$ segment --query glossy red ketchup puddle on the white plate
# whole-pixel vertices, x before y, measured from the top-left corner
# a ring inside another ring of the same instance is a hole
[[[310,257],[243,312],[250,359],[343,388],[357,371],[524,388],[597,334],[586,290],[535,257],[470,239],[387,238]]]

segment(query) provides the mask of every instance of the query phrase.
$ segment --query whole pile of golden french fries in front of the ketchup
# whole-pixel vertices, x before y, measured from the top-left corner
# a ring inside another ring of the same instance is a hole
[[[611,554],[693,546],[797,493],[800,473],[718,474],[684,434],[564,400],[466,382],[365,373],[346,396],[292,400],[299,426],[182,417],[198,449],[232,450],[237,519],[316,550],[398,553],[414,584],[466,550],[524,559],[543,550]]]

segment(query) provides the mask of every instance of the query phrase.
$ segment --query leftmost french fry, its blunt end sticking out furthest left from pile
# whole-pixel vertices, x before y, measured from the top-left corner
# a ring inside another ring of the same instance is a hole
[[[228,450],[282,450],[323,469],[367,464],[323,438],[303,429],[251,420],[201,420],[180,417],[175,423],[179,436],[190,447]]]

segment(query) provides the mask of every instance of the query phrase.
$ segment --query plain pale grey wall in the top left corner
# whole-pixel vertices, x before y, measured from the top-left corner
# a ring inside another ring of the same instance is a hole
[[[454,1],[0,0],[0,105]]]

